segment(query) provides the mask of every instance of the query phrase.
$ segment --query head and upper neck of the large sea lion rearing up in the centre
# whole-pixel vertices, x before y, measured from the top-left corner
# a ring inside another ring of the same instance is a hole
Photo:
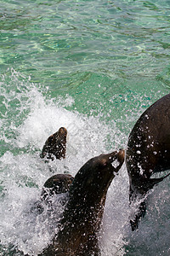
[[[100,154],[88,160],[77,172],[71,184],[70,195],[80,200],[100,201],[105,197],[112,179],[115,177],[124,161],[124,150],[111,154]]]

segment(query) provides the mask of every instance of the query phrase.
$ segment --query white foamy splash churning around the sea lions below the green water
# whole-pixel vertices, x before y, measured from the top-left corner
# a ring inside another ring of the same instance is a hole
[[[48,206],[43,206],[42,214],[31,210],[40,199],[43,183],[52,172],[75,176],[87,160],[108,152],[108,137],[110,144],[111,140],[114,144],[114,148],[110,148],[113,151],[127,133],[118,131],[116,120],[108,125],[99,116],[67,110],[68,105],[74,104],[71,96],[51,98],[48,88],[32,84],[31,79],[14,70],[1,76],[1,96],[0,253],[37,255],[57,232],[63,211],[59,198],[54,201],[54,210]],[[136,113],[139,115],[144,110],[143,107],[136,110],[141,96],[133,96],[134,100],[136,104],[134,102],[133,108],[126,113],[123,125],[128,120],[133,122]],[[66,158],[46,164],[39,158],[42,145],[60,126],[65,126],[69,134]],[[150,255],[161,255],[162,251],[168,255],[168,191],[167,178],[148,195],[148,212],[138,232],[132,233],[128,177],[123,165],[107,195],[103,228],[99,234],[102,255],[146,255],[148,250]]]

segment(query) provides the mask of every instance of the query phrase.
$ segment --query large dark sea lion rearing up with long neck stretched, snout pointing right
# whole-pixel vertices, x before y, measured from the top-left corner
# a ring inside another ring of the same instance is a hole
[[[120,150],[118,153],[100,154],[82,166],[71,183],[59,232],[41,255],[99,255],[97,234],[103,217],[106,193],[123,161],[124,150]]]

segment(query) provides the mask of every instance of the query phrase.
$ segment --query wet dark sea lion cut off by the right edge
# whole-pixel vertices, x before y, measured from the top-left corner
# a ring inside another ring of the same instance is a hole
[[[151,178],[155,172],[170,168],[170,94],[163,96],[140,116],[131,131],[126,153],[130,183],[130,201],[141,199],[165,177]],[[145,202],[131,220],[132,230],[138,228],[144,216]]]

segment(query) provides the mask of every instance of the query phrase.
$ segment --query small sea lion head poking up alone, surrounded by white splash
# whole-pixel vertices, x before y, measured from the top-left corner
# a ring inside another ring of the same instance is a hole
[[[54,156],[56,157],[56,159],[65,158],[66,136],[67,130],[65,129],[65,127],[60,127],[59,131],[48,137],[42,148],[42,153],[40,154],[40,157],[46,157],[47,159],[51,160],[54,160]]]

